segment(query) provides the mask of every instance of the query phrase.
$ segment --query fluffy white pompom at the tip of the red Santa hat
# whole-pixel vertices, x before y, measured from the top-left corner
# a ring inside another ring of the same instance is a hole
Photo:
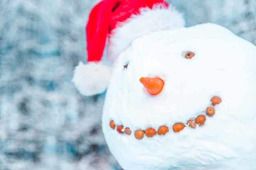
[[[92,96],[101,94],[106,90],[110,76],[110,67],[100,62],[90,62],[85,65],[80,61],[74,70],[72,82],[82,95]]]

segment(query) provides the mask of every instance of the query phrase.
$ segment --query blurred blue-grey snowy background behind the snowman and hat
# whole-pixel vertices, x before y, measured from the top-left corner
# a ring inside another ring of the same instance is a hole
[[[213,22],[256,44],[256,0],[167,0],[186,26]],[[104,94],[71,82],[99,0],[0,0],[0,170],[120,170],[101,131]]]

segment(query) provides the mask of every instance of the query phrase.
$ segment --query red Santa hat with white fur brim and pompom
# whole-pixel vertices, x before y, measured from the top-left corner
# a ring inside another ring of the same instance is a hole
[[[85,28],[88,63],[76,66],[72,81],[85,96],[100,94],[111,75],[110,67],[101,62],[107,38],[108,58],[114,62],[137,37],[183,26],[180,13],[164,0],[102,0]]]

